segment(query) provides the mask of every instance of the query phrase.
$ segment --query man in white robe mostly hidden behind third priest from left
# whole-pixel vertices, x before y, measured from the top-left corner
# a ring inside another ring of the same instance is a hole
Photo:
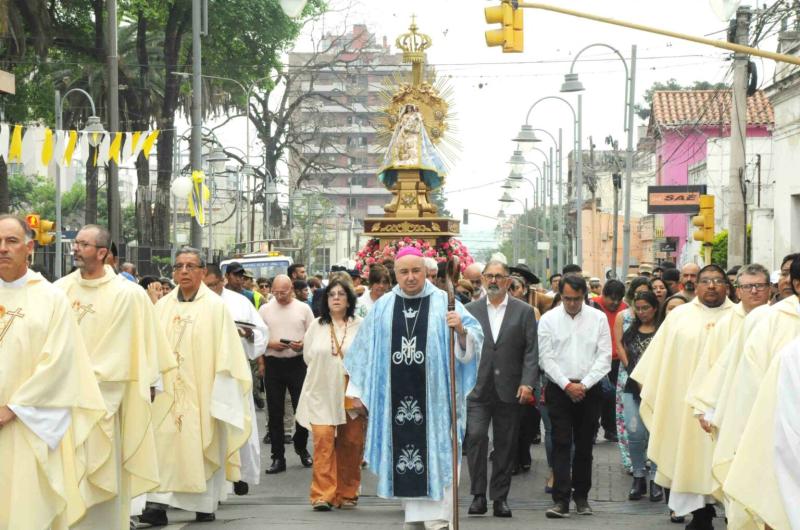
[[[233,321],[236,323],[236,331],[242,342],[247,358],[251,361],[261,359],[269,341],[269,329],[264,323],[264,319],[256,311],[255,306],[243,294],[223,287],[222,271],[216,265],[209,265],[206,269],[206,277],[203,279],[206,287],[222,297],[222,301],[228,307]],[[263,359],[260,366],[263,365]],[[261,481],[261,441],[258,439],[258,423],[256,418],[256,406],[253,401],[253,393],[248,399],[250,404],[250,438],[247,443],[239,450],[239,457],[242,465],[242,479],[233,484],[233,492],[237,495],[247,495],[250,484],[259,484]]]

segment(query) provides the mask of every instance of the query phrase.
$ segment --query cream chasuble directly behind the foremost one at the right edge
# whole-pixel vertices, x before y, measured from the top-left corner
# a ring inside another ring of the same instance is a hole
[[[718,483],[724,483],[727,478],[751,408],[774,355],[798,336],[800,308],[797,297],[791,296],[772,306],[747,337],[730,390],[719,403],[724,421],[719,425],[712,459],[712,473]],[[729,521],[737,524],[741,512],[736,506],[726,504],[726,507],[730,511]]]

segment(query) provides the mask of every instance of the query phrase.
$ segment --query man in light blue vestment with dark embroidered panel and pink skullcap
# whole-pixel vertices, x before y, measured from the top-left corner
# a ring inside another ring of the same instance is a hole
[[[450,329],[456,333],[459,443],[466,396],[475,385],[481,326],[425,279],[421,252],[405,247],[394,266],[397,286],[361,324],[345,357],[347,396],[369,414],[365,458],[378,495],[399,498],[410,527],[447,528],[452,518]],[[461,454],[461,449],[458,453]]]

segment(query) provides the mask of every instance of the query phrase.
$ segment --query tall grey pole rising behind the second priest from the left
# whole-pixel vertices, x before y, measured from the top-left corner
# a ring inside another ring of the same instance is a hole
[[[111,139],[119,134],[119,55],[117,55],[117,0],[108,0],[108,129]],[[107,179],[108,230],[111,240],[122,243],[122,214],[120,212],[119,166],[108,161]],[[60,229],[60,228],[59,228]]]

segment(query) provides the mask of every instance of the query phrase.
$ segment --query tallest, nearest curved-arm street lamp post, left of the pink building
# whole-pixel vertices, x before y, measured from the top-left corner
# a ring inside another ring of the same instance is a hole
[[[580,55],[589,48],[607,48],[619,57],[625,66],[625,131],[628,133],[628,144],[625,148],[625,214],[622,221],[622,276],[628,275],[631,251],[631,194],[633,193],[633,107],[636,89],[636,45],[631,46],[630,68],[628,62],[622,54],[613,46],[608,44],[596,43],[586,46],[579,51],[572,60],[569,73],[564,76],[564,84],[561,86],[562,92],[581,92],[584,90],[583,83],[578,79],[578,74],[574,73],[575,63]],[[578,96],[580,98],[580,95]],[[580,101],[580,99],[579,99]],[[615,250],[616,252],[616,250]]]

